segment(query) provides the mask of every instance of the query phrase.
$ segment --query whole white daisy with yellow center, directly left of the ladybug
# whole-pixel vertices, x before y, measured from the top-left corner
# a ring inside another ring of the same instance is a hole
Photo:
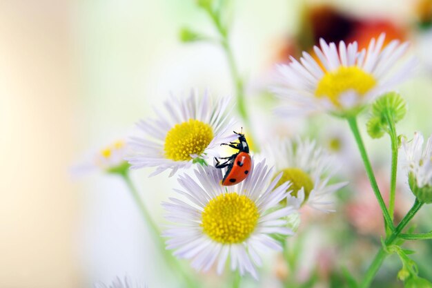
[[[167,113],[157,111],[157,119],[141,120],[137,126],[144,137],[132,137],[134,151],[127,160],[132,169],[157,167],[151,175],[171,169],[170,176],[207,155],[218,156],[216,149],[236,139],[224,137],[233,126],[228,115],[230,99],[213,103],[208,95],[193,91],[186,99],[171,95],[164,103]]]

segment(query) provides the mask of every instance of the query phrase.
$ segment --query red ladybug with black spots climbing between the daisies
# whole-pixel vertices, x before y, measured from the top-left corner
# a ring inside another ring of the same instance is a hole
[[[248,177],[248,173],[251,171],[252,161],[251,155],[249,155],[249,146],[246,142],[244,134],[237,133],[239,135],[239,142],[230,142],[229,144],[223,143],[221,145],[227,145],[231,148],[237,149],[239,152],[230,155],[230,157],[220,157],[219,159],[224,159],[226,162],[220,163],[219,159],[215,157],[216,168],[222,169],[228,166],[224,179],[222,179],[222,185],[231,186],[242,182]]]

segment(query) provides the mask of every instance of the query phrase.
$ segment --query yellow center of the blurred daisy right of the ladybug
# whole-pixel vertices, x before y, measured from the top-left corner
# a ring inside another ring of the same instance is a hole
[[[291,190],[291,195],[295,197],[297,197],[298,191],[300,191],[300,189],[303,187],[304,201],[306,201],[313,189],[313,181],[311,176],[309,176],[308,173],[304,172],[302,169],[298,168],[282,169],[276,175],[279,175],[281,172],[283,173],[282,177],[277,182],[276,186],[280,186],[287,181],[291,182],[291,186],[288,188],[288,190]]]

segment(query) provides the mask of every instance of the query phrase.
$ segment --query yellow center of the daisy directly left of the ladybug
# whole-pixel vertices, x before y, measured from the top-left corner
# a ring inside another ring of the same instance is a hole
[[[196,119],[176,124],[165,137],[165,156],[174,161],[191,160],[190,154],[202,155],[213,140],[210,125]]]

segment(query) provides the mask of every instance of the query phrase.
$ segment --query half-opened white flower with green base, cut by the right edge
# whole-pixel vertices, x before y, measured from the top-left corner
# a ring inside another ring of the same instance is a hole
[[[414,133],[414,139],[407,142],[402,138],[402,151],[405,158],[404,169],[409,176],[409,186],[417,198],[432,202],[432,136],[423,149],[423,135]]]

